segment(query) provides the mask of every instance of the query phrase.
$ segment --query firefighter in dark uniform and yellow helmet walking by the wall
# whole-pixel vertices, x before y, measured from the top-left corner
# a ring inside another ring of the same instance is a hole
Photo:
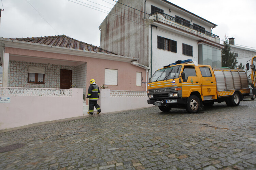
[[[94,79],[90,80],[90,86],[88,88],[88,94],[86,98],[89,98],[89,112],[88,114],[93,115],[94,106],[97,109],[97,114],[101,112],[100,105],[98,105],[97,100],[100,96],[99,86],[95,83]]]

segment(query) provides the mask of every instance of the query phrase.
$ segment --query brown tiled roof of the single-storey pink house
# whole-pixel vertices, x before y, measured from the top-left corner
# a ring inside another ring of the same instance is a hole
[[[12,40],[26,41],[30,43],[38,43],[49,46],[65,47],[77,50],[93,51],[107,54],[116,54],[111,51],[104,50],[97,46],[84,43],[82,41],[70,38],[66,35],[56,35],[56,36],[44,36],[44,37],[31,37],[31,38],[9,38]],[[117,55],[117,54],[116,54]]]

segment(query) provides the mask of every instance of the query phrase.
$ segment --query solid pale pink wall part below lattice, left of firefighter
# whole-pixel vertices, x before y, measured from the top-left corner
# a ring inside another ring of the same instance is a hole
[[[0,130],[83,116],[83,89],[73,88],[72,97],[11,96],[10,98],[10,103],[0,103]]]

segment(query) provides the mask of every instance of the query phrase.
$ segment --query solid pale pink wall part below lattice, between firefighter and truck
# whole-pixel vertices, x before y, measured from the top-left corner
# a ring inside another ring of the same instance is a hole
[[[110,89],[100,89],[99,104],[102,113],[153,106],[147,104],[147,100],[148,97],[110,97]]]

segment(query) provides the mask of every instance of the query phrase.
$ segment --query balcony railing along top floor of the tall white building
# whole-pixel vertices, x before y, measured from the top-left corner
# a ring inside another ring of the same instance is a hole
[[[196,27],[196,26],[193,26],[193,25],[191,25],[191,24],[188,23],[188,22],[185,22],[185,21],[180,20],[180,19],[178,19],[178,18],[172,17],[172,16],[167,15],[167,14],[165,14],[165,13],[161,13],[160,11],[156,11],[156,12],[150,14],[150,15],[153,15],[153,14],[155,14],[155,13],[158,13],[158,14],[163,15],[163,17],[165,17],[165,19],[168,19],[168,20],[170,20],[170,21],[179,23],[179,24],[181,24],[181,25],[183,25],[183,26],[185,26],[185,27],[188,27],[188,28],[190,28],[190,29],[197,30],[197,31],[199,31],[199,32],[201,32],[201,33],[204,33],[204,34],[206,34],[206,35],[208,35],[208,36],[211,36],[211,37],[213,37],[213,38],[218,38],[218,37],[219,37],[219,36],[217,36],[217,35],[215,35],[215,34],[212,34],[212,33],[208,32],[208,31],[205,31],[204,29],[201,29],[201,28],[198,28],[198,27]]]

